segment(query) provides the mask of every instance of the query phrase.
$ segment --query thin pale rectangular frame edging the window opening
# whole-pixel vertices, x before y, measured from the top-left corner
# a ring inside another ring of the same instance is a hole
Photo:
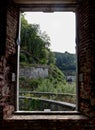
[[[51,5],[51,6],[50,6]],[[74,5],[73,7],[72,7],[72,5],[71,5],[71,8],[69,7],[65,7],[64,8],[64,4],[56,4],[56,6],[54,6],[54,4],[35,4],[35,5],[33,5],[33,8],[31,9],[30,8],[31,7],[31,5],[29,6],[29,5],[24,5],[23,7],[21,7],[20,8],[20,12],[19,12],[19,33],[18,33],[18,40],[17,40],[17,45],[18,45],[18,50],[17,50],[17,53],[18,53],[18,58],[17,58],[17,97],[18,97],[18,95],[19,95],[19,50],[20,50],[20,29],[21,29],[21,12],[26,12],[26,11],[30,11],[30,12],[33,12],[33,11],[37,11],[37,12],[50,12],[50,13],[52,13],[52,12],[65,12],[65,11],[67,11],[67,12],[74,12],[75,13],[75,16],[76,16],[76,12],[75,12],[75,8],[76,8],[76,6]],[[76,18],[75,18],[75,20],[76,20]],[[77,22],[77,21],[76,21]],[[75,27],[76,28],[76,27]],[[76,46],[77,46],[77,44],[76,44]],[[76,47],[76,55],[77,55],[77,47]],[[72,114],[79,114],[79,109],[78,109],[78,56],[76,57],[76,59],[77,59],[77,63],[76,63],[76,111],[50,111],[50,112],[45,112],[45,111],[19,111],[19,99],[18,98],[16,98],[16,101],[17,101],[17,103],[16,103],[16,111],[14,112],[15,114],[29,114],[29,115],[35,115],[35,114],[38,114],[38,115],[45,115],[45,114],[48,114],[48,115],[58,115],[58,114],[70,114],[70,115],[72,115]]]

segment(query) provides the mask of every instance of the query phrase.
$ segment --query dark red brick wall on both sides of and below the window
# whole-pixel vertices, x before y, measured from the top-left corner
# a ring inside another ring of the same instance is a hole
[[[3,9],[2,6],[1,9]],[[18,10],[14,5],[10,5],[6,14],[7,21],[5,19],[5,23],[7,22],[7,26],[4,28],[5,32],[7,32],[5,35],[6,47],[3,50],[5,53],[0,55],[0,106],[2,106],[0,107],[0,118],[10,115],[10,112],[14,109],[16,93],[16,82],[12,82],[11,79],[12,72],[16,73],[17,52],[15,41],[17,37]],[[18,120],[15,118],[12,120],[1,120],[0,129],[95,130],[95,118],[91,118],[95,112],[95,3],[92,0],[83,0],[76,10],[76,15],[79,73],[78,109],[90,118],[87,120],[69,119],[69,117],[63,119],[64,116],[60,119],[56,117],[54,119],[42,120],[25,120],[23,118]],[[0,16],[2,16],[2,13]]]

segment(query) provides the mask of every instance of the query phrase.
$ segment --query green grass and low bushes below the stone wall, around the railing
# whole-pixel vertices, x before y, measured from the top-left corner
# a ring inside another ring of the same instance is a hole
[[[49,70],[49,76],[45,79],[29,79],[25,77],[20,77],[20,91],[36,91],[36,92],[51,92],[55,93],[54,95],[42,94],[35,95],[26,93],[26,97],[38,97],[42,99],[50,99],[56,101],[63,101],[69,103],[76,103],[75,96],[63,96],[58,95],[59,93],[69,93],[76,94],[76,83],[68,83],[65,80],[65,76],[56,66],[51,65]],[[29,103],[30,102],[30,103]],[[25,106],[25,108],[24,108]],[[40,103],[38,101],[29,101],[29,99],[24,99],[21,101],[20,108],[21,110],[39,110]]]

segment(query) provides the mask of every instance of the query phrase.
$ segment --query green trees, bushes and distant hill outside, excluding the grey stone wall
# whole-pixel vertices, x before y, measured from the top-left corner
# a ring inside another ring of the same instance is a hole
[[[76,86],[66,82],[67,75],[75,75],[76,71],[76,56],[75,54],[57,53],[50,50],[50,37],[46,32],[40,30],[40,26],[37,24],[29,24],[22,14],[21,17],[21,49],[20,49],[20,65],[21,66],[36,66],[47,65],[49,67],[49,75],[47,78],[29,79],[26,77],[20,77],[19,85],[20,91],[32,91],[32,92],[51,92],[51,93],[76,93]],[[29,95],[26,94],[26,97]],[[34,97],[34,95],[31,95]],[[41,98],[47,98],[48,96],[42,95]],[[69,98],[51,96],[52,100],[71,101]],[[28,99],[24,100],[24,103],[28,102]],[[33,102],[35,102],[33,100]],[[32,105],[33,105],[32,102]],[[75,98],[72,100],[75,103]],[[23,102],[22,102],[23,104]],[[35,104],[35,103],[34,103]],[[34,110],[38,110],[36,105],[33,105]],[[20,106],[23,108],[23,106]],[[26,106],[30,110],[29,106]],[[38,106],[40,107],[40,106]],[[24,109],[24,108],[23,108]],[[26,109],[26,108],[25,108]]]

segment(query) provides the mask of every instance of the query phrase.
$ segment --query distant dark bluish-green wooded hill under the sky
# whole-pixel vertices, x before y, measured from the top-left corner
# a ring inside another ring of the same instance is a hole
[[[65,75],[75,75],[76,73],[76,55],[68,52],[55,52],[56,65]]]

